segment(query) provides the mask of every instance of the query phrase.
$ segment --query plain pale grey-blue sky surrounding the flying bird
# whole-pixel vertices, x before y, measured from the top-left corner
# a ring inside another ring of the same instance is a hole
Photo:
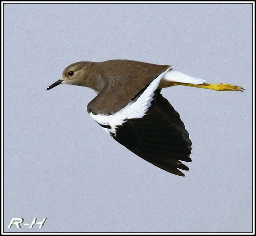
[[[246,88],[162,90],[193,143],[186,177],[107,135],[93,90],[46,91],[69,64],[110,59]],[[251,4],[4,4],[4,232],[250,231]]]

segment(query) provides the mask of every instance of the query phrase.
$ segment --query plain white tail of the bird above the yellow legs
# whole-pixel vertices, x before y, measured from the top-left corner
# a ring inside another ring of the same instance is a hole
[[[187,84],[203,84],[205,80],[194,78],[190,75],[183,74],[178,71],[168,71],[162,78],[162,80],[166,80],[167,82],[180,82]]]

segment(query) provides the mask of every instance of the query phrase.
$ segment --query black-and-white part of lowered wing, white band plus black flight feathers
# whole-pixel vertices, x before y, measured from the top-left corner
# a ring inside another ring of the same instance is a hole
[[[139,157],[172,174],[185,176],[191,162],[191,141],[180,115],[162,97],[159,75],[135,99],[115,114],[92,114],[116,141]]]

